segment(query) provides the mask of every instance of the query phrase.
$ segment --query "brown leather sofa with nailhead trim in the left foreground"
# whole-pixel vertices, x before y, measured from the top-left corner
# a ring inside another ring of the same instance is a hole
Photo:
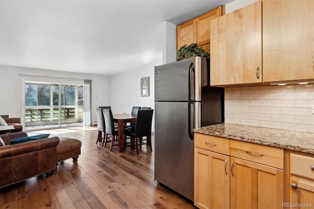
[[[0,135],[5,144],[0,145],[0,188],[43,173],[51,176],[56,168],[59,137],[9,145],[12,139],[24,136],[27,136],[26,132]]]

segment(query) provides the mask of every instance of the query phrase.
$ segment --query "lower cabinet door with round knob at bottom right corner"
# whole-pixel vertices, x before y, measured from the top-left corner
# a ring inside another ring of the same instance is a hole
[[[300,205],[301,207],[294,208],[309,208],[309,206],[306,207],[306,205],[314,206],[314,181],[290,178],[289,193],[289,203],[304,204],[303,207]]]

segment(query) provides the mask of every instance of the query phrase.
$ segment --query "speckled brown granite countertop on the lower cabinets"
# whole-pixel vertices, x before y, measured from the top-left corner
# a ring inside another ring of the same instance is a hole
[[[310,132],[227,123],[201,127],[194,132],[314,154],[314,133]]]

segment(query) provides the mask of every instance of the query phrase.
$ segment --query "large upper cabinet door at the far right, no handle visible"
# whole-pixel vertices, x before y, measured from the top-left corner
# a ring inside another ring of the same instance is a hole
[[[263,81],[314,79],[314,0],[263,0]]]

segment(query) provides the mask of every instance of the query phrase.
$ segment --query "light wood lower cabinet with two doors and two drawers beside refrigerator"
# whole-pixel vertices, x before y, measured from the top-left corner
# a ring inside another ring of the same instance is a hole
[[[281,148],[196,133],[194,205],[201,209],[283,208],[283,168]]]

